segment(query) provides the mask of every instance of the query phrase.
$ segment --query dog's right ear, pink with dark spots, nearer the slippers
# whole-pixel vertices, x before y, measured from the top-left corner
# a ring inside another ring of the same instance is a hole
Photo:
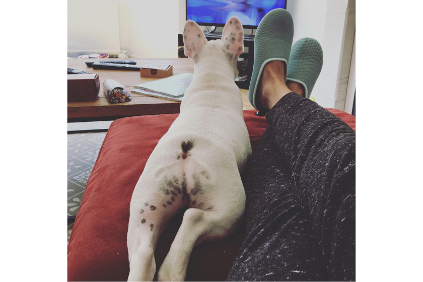
[[[244,31],[237,17],[231,17],[223,29],[222,49],[231,60],[237,60],[244,52]]]

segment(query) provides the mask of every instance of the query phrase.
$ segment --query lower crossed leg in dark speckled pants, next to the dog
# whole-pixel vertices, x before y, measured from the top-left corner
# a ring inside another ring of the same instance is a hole
[[[328,280],[318,242],[293,193],[291,172],[278,155],[271,127],[260,139],[247,176],[246,237],[227,279]]]

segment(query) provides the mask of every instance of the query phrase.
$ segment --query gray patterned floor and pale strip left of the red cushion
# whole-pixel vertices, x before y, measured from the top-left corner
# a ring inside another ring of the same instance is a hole
[[[109,128],[112,121],[68,123],[67,130]],[[67,216],[76,216],[106,132],[67,134]],[[74,224],[67,226],[67,241]]]

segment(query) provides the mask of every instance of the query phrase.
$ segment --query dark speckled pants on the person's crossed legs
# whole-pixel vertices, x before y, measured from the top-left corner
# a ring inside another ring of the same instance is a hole
[[[355,280],[354,130],[296,93],[266,119],[245,182],[246,236],[228,280]]]

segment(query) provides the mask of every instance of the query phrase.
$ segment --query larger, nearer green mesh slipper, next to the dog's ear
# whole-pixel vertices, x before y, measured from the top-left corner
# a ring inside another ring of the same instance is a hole
[[[251,105],[259,111],[257,115],[263,116],[268,111],[256,99],[258,82],[264,65],[269,61],[283,61],[286,81],[293,37],[294,22],[291,14],[285,9],[271,10],[258,24],[254,37],[253,73],[248,91]]]

